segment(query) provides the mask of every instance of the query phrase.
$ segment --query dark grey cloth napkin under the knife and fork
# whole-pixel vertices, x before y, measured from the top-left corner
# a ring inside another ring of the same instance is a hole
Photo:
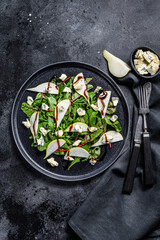
[[[98,185],[88,194],[87,199],[69,221],[69,225],[83,240],[141,239],[160,224],[160,81],[158,78],[152,80],[148,116],[156,183],[150,189],[144,188],[141,148],[131,195],[122,194],[122,187],[131,157],[134,136],[132,132],[134,133],[138,117],[137,85],[144,81],[132,73],[116,81],[127,86],[131,90],[130,94],[134,95],[134,106],[129,103],[129,106],[133,106],[130,109],[131,131],[119,159],[103,174]]]

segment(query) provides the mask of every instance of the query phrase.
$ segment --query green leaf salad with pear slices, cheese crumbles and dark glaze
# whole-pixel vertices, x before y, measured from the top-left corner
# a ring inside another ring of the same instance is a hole
[[[103,146],[111,148],[123,140],[116,115],[119,98],[101,86],[94,89],[91,82],[82,72],[61,74],[27,89],[37,94],[22,103],[27,115],[22,124],[30,129],[31,146],[45,151],[44,159],[52,167],[59,165],[56,155],[71,162],[68,170],[81,161],[95,165]]]

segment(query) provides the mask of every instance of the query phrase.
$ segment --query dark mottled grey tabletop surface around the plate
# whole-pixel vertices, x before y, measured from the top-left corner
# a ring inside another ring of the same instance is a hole
[[[126,62],[137,46],[160,53],[159,13],[159,0],[1,0],[0,240],[78,239],[67,220],[100,179],[55,181],[25,162],[10,126],[22,83],[44,65],[63,60],[107,71],[104,48]]]

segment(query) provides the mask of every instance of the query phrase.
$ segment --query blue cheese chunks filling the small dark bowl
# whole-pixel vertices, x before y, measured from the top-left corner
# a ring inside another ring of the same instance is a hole
[[[154,75],[159,70],[158,56],[151,51],[138,49],[134,56],[134,66],[141,75]]]

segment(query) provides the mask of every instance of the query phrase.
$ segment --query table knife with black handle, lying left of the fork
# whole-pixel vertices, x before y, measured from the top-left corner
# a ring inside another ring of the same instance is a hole
[[[139,150],[142,144],[142,128],[143,128],[143,118],[142,118],[142,115],[139,115],[137,125],[136,125],[132,156],[128,165],[127,174],[124,180],[124,185],[122,190],[122,192],[126,194],[130,194],[133,189],[134,177],[135,177],[136,167],[138,163]]]

